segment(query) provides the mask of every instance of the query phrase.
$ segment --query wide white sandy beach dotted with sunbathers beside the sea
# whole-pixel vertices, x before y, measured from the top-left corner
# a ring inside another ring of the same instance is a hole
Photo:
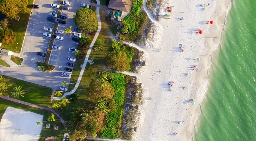
[[[152,100],[145,100],[140,108],[142,116],[134,140],[192,140],[195,119],[200,112],[199,103],[207,91],[210,54],[219,46],[225,11],[230,1],[169,0],[166,7],[173,6],[171,19],[154,22],[158,30],[154,37],[157,41],[143,49],[148,61],[138,77],[144,85],[144,97],[151,97]],[[203,11],[200,5],[208,3],[210,6],[205,6]],[[145,7],[145,2],[143,5]],[[166,9],[161,12],[167,14]],[[210,20],[214,21],[213,25],[205,24]],[[203,34],[195,34],[197,28]],[[184,52],[178,48],[179,44],[182,44]],[[202,59],[194,62],[198,57]],[[190,68],[193,65],[197,65],[195,71]],[[171,92],[168,87],[170,81],[174,82]],[[183,86],[185,90],[181,88]],[[189,99],[195,99],[195,105],[186,103]],[[178,124],[179,121],[184,123]],[[174,135],[175,132],[177,135]]]

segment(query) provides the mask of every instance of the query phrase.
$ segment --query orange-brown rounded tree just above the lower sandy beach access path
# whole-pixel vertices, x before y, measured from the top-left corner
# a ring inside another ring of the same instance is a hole
[[[126,59],[125,52],[112,52],[107,56],[107,65],[109,69],[116,71],[125,71],[129,68],[130,62]]]

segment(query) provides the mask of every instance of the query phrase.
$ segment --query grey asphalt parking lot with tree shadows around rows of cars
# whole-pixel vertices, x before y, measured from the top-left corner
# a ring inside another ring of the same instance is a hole
[[[73,22],[73,15],[77,9],[81,8],[79,5],[84,2],[84,0],[69,0],[71,2],[70,10],[62,11],[61,14],[67,16],[66,24],[59,23],[58,30],[65,31],[70,25],[72,26],[72,31],[76,28]],[[47,53],[47,48],[49,46],[50,37],[45,37],[42,35],[43,32],[52,34],[50,32],[44,31],[44,27],[54,27],[54,23],[47,20],[49,12],[58,11],[58,8],[51,7],[51,3],[59,4],[60,0],[35,0],[34,4],[40,6],[40,8],[32,9],[32,14],[27,26],[26,35],[23,42],[23,48],[21,50],[21,57],[24,61],[21,66],[6,68],[0,66],[0,72],[3,75],[11,76],[17,79],[22,79],[28,82],[36,83],[39,85],[52,87],[54,89],[59,89],[62,82],[69,82],[70,79],[65,76],[61,76],[61,72],[67,72],[64,70],[67,67],[66,63],[69,62],[67,57],[75,58],[73,52],[69,51],[69,48],[77,48],[78,42],[72,40],[70,34],[58,34],[58,36],[64,37],[63,41],[55,39],[54,44],[60,46],[60,50],[52,50],[49,64],[55,65],[55,70],[52,72],[42,72],[38,70],[36,62],[44,62],[45,57],[38,56],[37,52]],[[59,17],[59,15],[58,15]],[[63,20],[63,19],[61,19]],[[72,68],[72,67],[68,67]]]

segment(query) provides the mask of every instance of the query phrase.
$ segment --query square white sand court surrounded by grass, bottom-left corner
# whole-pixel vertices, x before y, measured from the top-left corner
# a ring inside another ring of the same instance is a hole
[[[43,115],[7,107],[0,122],[0,141],[38,141]]]

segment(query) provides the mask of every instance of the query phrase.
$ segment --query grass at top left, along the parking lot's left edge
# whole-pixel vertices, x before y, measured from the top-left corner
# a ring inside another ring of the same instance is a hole
[[[16,53],[20,53],[21,47],[22,47],[22,43],[23,43],[23,39],[25,36],[25,32],[26,32],[26,27],[27,24],[29,22],[29,16],[30,16],[30,12],[31,12],[31,8],[33,5],[33,1],[34,0],[28,0],[28,7],[26,8],[25,12],[23,14],[20,14],[20,20],[10,20],[9,24],[13,24],[13,27],[9,27],[12,29],[12,31],[16,34],[16,40],[15,42],[13,42],[12,44],[9,45],[2,45],[1,48],[10,50],[12,52],[16,52]],[[17,44],[19,43],[19,44]]]

